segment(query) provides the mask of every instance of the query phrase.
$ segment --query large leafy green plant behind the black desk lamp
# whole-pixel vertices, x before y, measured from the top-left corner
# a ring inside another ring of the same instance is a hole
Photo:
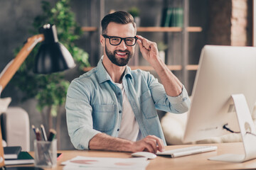
[[[75,22],[75,15],[70,10],[69,0],[58,0],[53,8],[48,1],[42,1],[43,13],[36,16],[33,21],[33,35],[38,34],[38,28],[46,23],[55,24],[59,41],[67,47],[78,65],[78,69],[90,66],[88,54],[75,45],[75,40],[80,38],[82,30]],[[39,46],[39,45],[38,45]],[[65,103],[66,92],[70,84],[64,79],[63,72],[54,74],[33,74],[33,60],[38,51],[36,46],[31,54],[23,62],[14,79],[11,80],[17,88],[23,92],[22,100],[36,98],[36,108],[41,113],[43,124],[46,129],[53,128],[53,119],[56,120],[55,127],[57,137],[60,135],[60,106]],[[18,52],[19,49],[16,49]]]

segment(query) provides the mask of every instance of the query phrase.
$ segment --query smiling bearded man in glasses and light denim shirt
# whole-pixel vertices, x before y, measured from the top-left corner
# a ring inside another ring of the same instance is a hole
[[[156,109],[188,111],[186,89],[159,59],[156,43],[136,35],[129,13],[108,14],[101,24],[102,59],[68,89],[65,108],[71,142],[77,149],[162,152],[166,142]],[[136,42],[164,86],[149,72],[127,67]]]

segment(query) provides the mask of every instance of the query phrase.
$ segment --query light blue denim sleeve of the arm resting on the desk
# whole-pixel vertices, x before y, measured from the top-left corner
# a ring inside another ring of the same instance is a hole
[[[99,131],[93,129],[90,92],[82,84],[72,81],[65,103],[68,135],[76,149],[89,149],[89,142]]]

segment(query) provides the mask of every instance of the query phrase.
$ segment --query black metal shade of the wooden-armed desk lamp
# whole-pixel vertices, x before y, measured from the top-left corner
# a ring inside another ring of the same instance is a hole
[[[43,33],[44,40],[36,55],[33,72],[49,74],[75,67],[75,62],[70,52],[64,45],[58,42],[57,31],[54,25],[47,24],[40,28],[39,32]]]

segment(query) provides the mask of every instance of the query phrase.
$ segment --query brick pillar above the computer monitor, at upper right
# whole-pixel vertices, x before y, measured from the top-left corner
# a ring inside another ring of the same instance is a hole
[[[210,0],[208,44],[251,45],[251,0]]]

